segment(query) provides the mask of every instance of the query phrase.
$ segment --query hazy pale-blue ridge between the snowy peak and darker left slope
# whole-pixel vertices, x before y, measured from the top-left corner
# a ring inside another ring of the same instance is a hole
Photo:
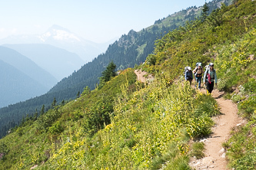
[[[3,44],[33,60],[57,80],[68,77],[85,64],[77,54],[48,44]]]

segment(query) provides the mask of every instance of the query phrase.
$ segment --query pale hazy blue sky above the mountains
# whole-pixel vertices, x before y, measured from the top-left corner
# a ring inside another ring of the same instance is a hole
[[[205,0],[0,0],[0,38],[43,34],[59,25],[94,42],[141,31],[182,9]],[[209,2],[209,0],[206,0]]]

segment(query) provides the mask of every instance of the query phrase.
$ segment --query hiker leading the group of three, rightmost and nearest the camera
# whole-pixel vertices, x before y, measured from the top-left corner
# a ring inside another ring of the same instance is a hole
[[[216,71],[214,70],[214,64],[210,63],[208,69],[204,72],[204,84],[206,84],[206,89],[208,93],[214,89],[214,81],[215,85],[217,86],[217,75]]]

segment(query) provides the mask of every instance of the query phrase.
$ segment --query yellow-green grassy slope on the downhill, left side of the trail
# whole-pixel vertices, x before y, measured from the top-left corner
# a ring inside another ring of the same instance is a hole
[[[144,87],[129,69],[1,139],[0,168],[157,168],[171,158],[168,166],[188,167],[188,140],[211,132],[215,114],[211,96],[181,84]]]

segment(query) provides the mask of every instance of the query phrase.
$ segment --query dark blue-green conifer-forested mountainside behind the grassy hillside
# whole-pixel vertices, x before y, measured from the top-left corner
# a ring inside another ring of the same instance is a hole
[[[218,2],[223,1],[215,1],[215,3]],[[228,3],[229,1],[225,2]],[[214,4],[212,8],[214,8]],[[194,7],[194,9],[197,9],[197,15],[191,13],[192,18],[200,15],[201,8]],[[191,8],[188,8],[187,11],[191,11]],[[91,90],[95,89],[98,77],[101,77],[101,72],[105,70],[105,67],[107,67],[111,60],[114,61],[118,70],[134,67],[135,64],[145,62],[148,54],[152,54],[154,51],[155,40],[167,34],[168,31],[178,28],[178,25],[185,25],[185,22],[191,19],[189,17],[190,13],[186,18],[184,13],[186,12],[180,11],[175,15],[170,15],[168,18],[163,19],[161,24],[158,21],[155,25],[139,32],[129,31],[127,35],[124,34],[114,44],[109,45],[108,50],[104,54],[98,55],[95,60],[85,64],[80,70],[75,71],[69,77],[62,79],[45,95],[3,108],[0,110],[0,114],[12,115],[20,113],[20,118],[22,118],[22,116],[25,116],[25,113],[32,115],[36,109],[40,110],[43,104],[46,107],[51,106],[54,97],[58,103],[61,103],[62,100],[75,99],[77,94],[81,93],[85,87],[89,87]]]

